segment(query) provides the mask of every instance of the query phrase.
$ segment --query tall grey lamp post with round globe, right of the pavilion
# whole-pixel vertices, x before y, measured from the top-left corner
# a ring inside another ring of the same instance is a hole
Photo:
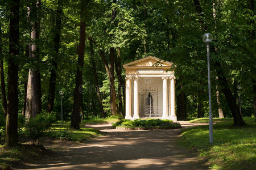
[[[213,121],[212,121],[212,97],[210,94],[210,42],[212,42],[212,34],[205,33],[203,41],[207,44],[207,66],[208,66],[208,88],[209,88],[209,138],[210,143],[213,143]]]

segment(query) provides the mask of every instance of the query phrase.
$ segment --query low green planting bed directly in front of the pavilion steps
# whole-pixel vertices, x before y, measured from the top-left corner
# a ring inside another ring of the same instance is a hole
[[[171,120],[160,120],[160,119],[137,119],[134,121],[131,120],[121,120],[112,124],[113,127],[121,126],[127,128],[135,128],[135,127],[142,127],[142,128],[180,128],[179,122],[173,122]]]

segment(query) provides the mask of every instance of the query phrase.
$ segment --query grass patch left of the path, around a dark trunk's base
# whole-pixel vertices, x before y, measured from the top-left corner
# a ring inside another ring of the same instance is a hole
[[[81,142],[93,136],[101,135],[101,133],[97,129],[86,128],[84,124],[80,124],[80,130],[70,129],[70,121],[64,121],[63,125],[61,125],[61,121],[57,121],[51,126],[50,131],[46,132],[46,135],[57,139]]]

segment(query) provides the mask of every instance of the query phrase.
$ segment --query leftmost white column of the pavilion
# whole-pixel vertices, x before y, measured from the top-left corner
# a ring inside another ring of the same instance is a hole
[[[131,117],[131,78],[126,77],[126,95],[125,95],[125,118],[132,119]]]

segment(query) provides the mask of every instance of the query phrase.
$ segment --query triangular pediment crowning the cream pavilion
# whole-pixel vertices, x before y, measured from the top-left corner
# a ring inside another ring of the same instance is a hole
[[[162,59],[148,56],[142,59],[138,59],[136,61],[127,63],[123,65],[123,67],[152,67],[152,66],[158,66],[158,67],[171,67],[172,62],[169,61],[163,61]]]

